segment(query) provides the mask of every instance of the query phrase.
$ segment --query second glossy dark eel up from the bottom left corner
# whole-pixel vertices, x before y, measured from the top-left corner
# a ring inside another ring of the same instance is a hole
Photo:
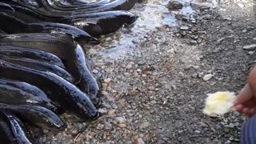
[[[34,126],[42,127],[47,130],[62,130],[65,123],[62,119],[42,106],[28,105],[10,105],[0,103],[0,110],[10,111],[21,118],[22,122],[26,121]]]

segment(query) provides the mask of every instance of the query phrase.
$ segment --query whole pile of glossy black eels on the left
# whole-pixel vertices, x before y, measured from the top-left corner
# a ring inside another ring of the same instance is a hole
[[[34,143],[27,126],[62,130],[60,114],[99,117],[101,82],[83,46],[133,24],[137,0],[0,0],[0,139]]]

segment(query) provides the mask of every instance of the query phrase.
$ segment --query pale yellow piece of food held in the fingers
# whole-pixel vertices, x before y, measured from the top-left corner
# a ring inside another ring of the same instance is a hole
[[[230,112],[230,108],[234,106],[235,95],[233,92],[221,91],[207,95],[206,107],[203,113],[211,117],[226,114]]]

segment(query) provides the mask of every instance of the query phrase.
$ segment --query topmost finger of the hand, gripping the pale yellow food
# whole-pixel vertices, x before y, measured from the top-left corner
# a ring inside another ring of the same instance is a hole
[[[243,104],[244,102],[249,101],[250,98],[252,98],[252,97],[253,97],[253,93],[250,90],[250,86],[248,84],[246,84],[246,86],[244,86],[242,88],[242,90],[238,94],[238,97],[234,101],[234,106]]]

